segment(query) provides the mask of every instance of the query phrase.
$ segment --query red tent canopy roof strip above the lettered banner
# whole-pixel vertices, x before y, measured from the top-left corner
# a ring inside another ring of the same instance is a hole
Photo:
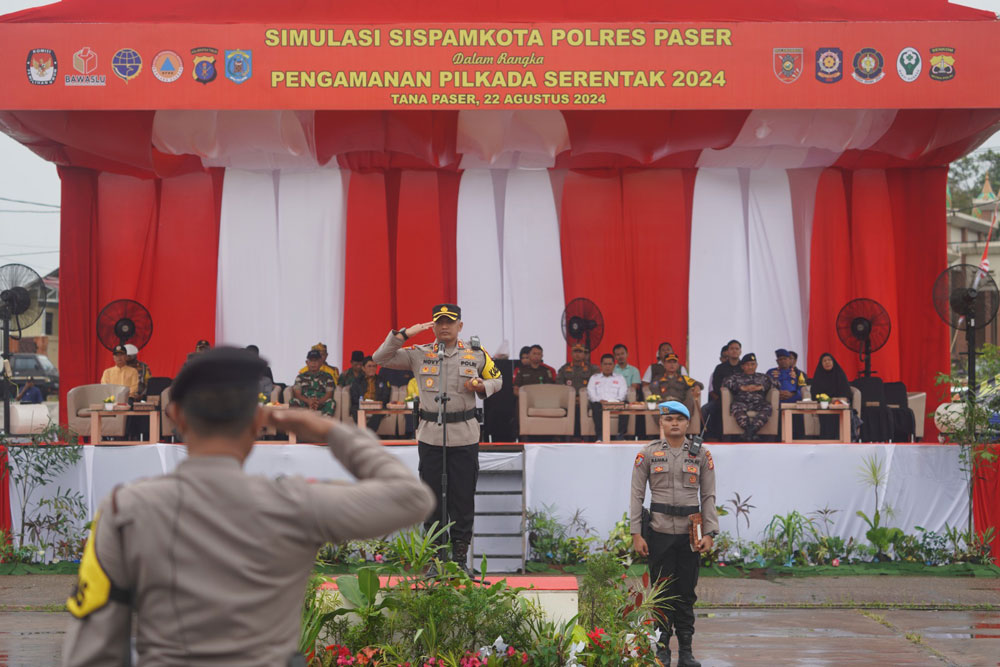
[[[395,23],[406,21],[981,21],[991,12],[947,0],[63,0],[0,17],[26,23]]]

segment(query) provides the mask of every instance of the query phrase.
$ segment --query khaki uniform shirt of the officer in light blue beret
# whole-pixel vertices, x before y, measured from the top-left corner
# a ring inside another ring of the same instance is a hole
[[[702,534],[719,530],[715,509],[715,462],[702,445],[697,456],[688,453],[690,439],[674,449],[666,440],[654,440],[635,457],[629,523],[633,534],[642,530],[642,501],[649,484],[651,502],[667,505],[701,505]],[[681,535],[688,532],[686,516],[652,513],[652,528],[658,533]]]

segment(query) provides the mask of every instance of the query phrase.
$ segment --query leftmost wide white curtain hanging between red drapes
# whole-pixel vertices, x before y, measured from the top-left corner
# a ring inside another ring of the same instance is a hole
[[[290,383],[309,347],[340,365],[346,200],[339,170],[226,170],[219,234],[219,343],[260,347]]]

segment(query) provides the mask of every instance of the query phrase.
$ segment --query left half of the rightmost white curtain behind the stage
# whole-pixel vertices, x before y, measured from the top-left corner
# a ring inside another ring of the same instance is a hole
[[[745,203],[736,169],[699,169],[691,212],[688,369],[705,378],[731,338],[750,349],[750,265]]]

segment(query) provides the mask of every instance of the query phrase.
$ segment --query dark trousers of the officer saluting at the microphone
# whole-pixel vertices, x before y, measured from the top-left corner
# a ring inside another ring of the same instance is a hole
[[[424,521],[428,530],[441,521],[441,470],[444,447],[417,443],[420,479],[434,492],[434,512]],[[451,541],[472,541],[476,518],[476,482],[479,480],[479,444],[448,447],[448,520],[453,521]],[[441,526],[438,526],[439,528]]]

